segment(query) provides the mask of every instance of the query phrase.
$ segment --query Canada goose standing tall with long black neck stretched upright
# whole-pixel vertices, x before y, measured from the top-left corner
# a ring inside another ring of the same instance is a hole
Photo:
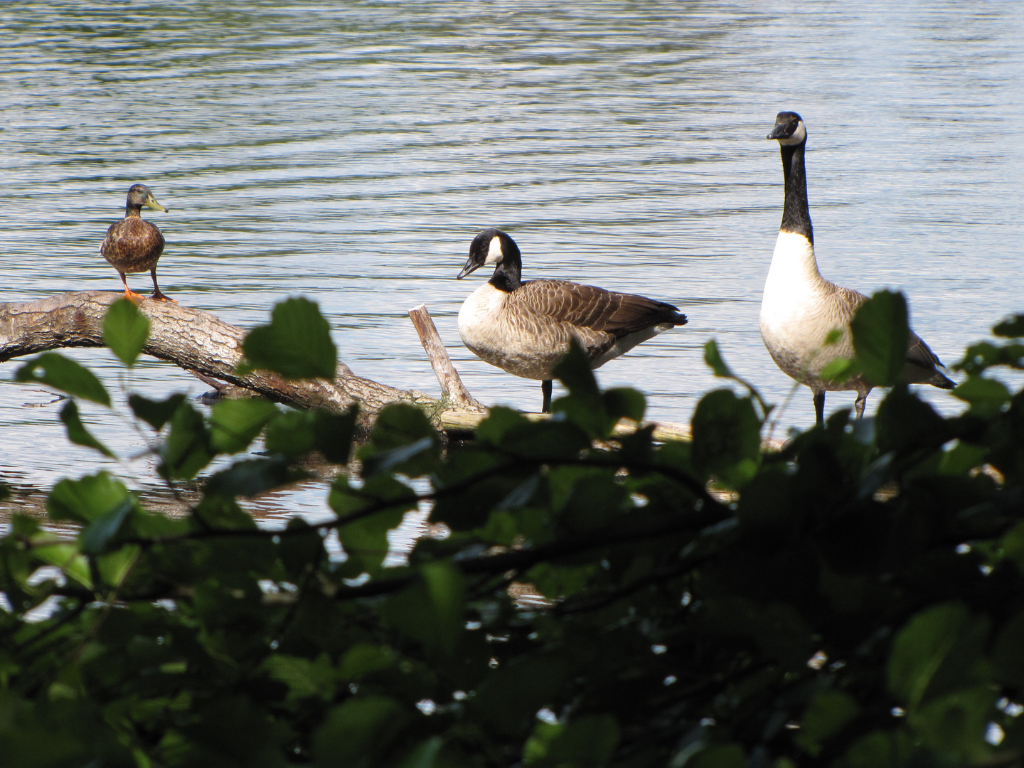
[[[795,112],[780,112],[769,139],[778,141],[782,152],[785,202],[775,252],[761,299],[761,338],[772,359],[782,371],[814,393],[818,424],[824,423],[826,390],[852,389],[857,392],[854,410],[864,415],[871,385],[854,376],[843,382],[821,378],[821,370],[838,357],[853,356],[850,321],[867,297],[829,283],[821,276],[814,258],[814,231],[807,205],[807,175],[804,151],[807,128]],[[825,344],[828,334],[842,332],[835,344]],[[939,371],[942,362],[912,331],[906,353],[906,381],[951,389],[954,384]]]

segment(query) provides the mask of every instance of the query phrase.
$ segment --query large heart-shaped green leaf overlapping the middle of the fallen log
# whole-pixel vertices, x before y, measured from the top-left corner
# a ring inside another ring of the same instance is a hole
[[[338,350],[319,307],[301,297],[274,305],[270,325],[254,328],[242,344],[249,364],[286,379],[334,379]]]

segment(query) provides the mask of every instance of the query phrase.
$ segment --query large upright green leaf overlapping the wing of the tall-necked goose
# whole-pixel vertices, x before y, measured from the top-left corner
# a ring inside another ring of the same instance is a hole
[[[850,329],[857,367],[876,386],[901,381],[910,340],[902,293],[879,291],[858,307]]]

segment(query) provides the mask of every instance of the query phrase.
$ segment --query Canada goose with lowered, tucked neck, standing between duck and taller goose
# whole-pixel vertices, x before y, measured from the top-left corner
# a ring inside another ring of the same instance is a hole
[[[672,304],[563,280],[520,280],[522,257],[501,229],[473,239],[462,280],[494,266],[490,280],[459,310],[459,335],[477,357],[524,379],[540,379],[551,413],[551,371],[575,339],[600,368],[642,341],[686,324]]]

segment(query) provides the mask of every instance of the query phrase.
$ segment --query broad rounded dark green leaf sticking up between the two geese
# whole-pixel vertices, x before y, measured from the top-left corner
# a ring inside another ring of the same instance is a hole
[[[729,389],[709,392],[697,403],[691,422],[694,463],[709,475],[739,486],[757,472],[761,421],[750,397]]]

